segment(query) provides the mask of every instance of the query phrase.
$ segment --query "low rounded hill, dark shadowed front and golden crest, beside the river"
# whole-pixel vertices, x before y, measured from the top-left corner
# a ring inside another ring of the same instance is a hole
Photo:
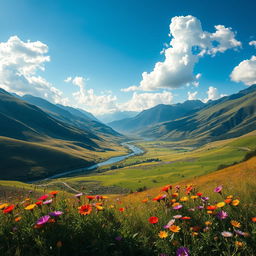
[[[127,153],[125,148],[108,140],[101,142],[103,148],[111,149],[106,151],[91,151],[75,142],[58,139],[25,142],[0,137],[0,143],[2,179],[33,180]]]

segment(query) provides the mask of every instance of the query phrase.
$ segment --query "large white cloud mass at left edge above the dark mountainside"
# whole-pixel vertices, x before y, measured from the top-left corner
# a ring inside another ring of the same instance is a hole
[[[37,74],[50,61],[48,46],[12,36],[0,43],[0,87],[18,95],[32,94],[56,103],[67,103],[62,92]]]

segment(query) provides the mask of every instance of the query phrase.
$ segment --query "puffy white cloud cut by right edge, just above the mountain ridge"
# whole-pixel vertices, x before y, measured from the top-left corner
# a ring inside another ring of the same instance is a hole
[[[256,84],[256,56],[240,62],[233,69],[230,78],[235,82],[243,82],[246,85]]]

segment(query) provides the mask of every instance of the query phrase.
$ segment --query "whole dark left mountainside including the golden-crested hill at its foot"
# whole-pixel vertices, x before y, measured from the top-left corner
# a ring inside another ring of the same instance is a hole
[[[89,125],[84,121],[88,129],[81,129],[71,122],[54,118],[57,111],[54,105],[51,107],[53,114],[49,115],[0,90],[1,179],[43,178],[125,154],[126,150],[118,145],[122,137],[112,132],[111,128],[97,122],[99,127],[95,125],[89,130]],[[59,116],[62,117],[64,114],[61,110]],[[72,114],[63,111],[73,118]],[[104,133],[105,127],[110,131],[108,134]]]

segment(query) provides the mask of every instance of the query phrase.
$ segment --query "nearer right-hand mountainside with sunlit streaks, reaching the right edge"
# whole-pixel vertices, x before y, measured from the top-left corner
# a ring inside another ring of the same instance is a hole
[[[164,140],[191,140],[192,144],[237,137],[255,130],[256,85],[210,102],[180,119],[156,124],[139,135]]]

